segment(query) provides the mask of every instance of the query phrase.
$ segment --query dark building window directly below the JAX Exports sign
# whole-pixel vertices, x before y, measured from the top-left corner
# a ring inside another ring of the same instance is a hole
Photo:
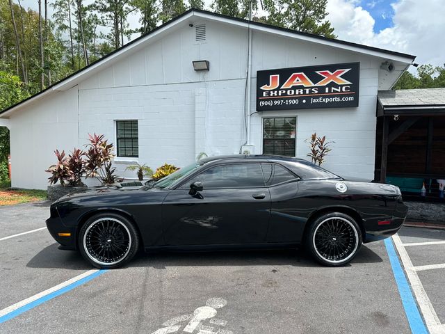
[[[295,117],[264,118],[263,154],[295,157]]]

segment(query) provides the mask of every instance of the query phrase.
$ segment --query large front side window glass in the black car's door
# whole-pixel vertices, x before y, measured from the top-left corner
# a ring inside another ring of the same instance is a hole
[[[215,166],[204,170],[181,186],[185,188],[200,181],[205,189],[215,188],[259,188],[264,187],[260,164],[232,164]]]

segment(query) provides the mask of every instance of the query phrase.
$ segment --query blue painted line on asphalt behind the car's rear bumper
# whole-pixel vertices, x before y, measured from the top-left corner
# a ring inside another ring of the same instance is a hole
[[[403,308],[410,323],[411,332],[414,334],[428,334],[428,330],[425,324],[423,324],[419,308],[417,308],[416,301],[412,295],[405,273],[403,272],[401,262],[398,260],[391,238],[385,239],[385,246],[389,256],[389,262],[391,262],[392,272],[396,279],[398,293],[401,295]]]

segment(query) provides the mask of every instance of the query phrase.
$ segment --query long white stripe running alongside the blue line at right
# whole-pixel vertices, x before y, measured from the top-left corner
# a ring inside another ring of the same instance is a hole
[[[414,295],[416,296],[417,303],[419,303],[419,308],[421,309],[423,319],[425,319],[428,331],[435,334],[445,334],[445,328],[441,326],[442,324],[437,317],[435,309],[432,307],[431,301],[423,288],[419,276],[417,276],[417,273],[414,270],[410,256],[408,256],[408,253],[402,244],[401,238],[398,236],[398,234],[394,234],[392,239],[397,248],[398,255],[401,257],[403,267],[405,267],[407,278],[410,281],[410,285]]]

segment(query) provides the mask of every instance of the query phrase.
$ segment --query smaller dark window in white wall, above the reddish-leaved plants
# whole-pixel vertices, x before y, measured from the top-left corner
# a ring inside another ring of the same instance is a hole
[[[138,121],[116,120],[118,157],[139,157]]]

